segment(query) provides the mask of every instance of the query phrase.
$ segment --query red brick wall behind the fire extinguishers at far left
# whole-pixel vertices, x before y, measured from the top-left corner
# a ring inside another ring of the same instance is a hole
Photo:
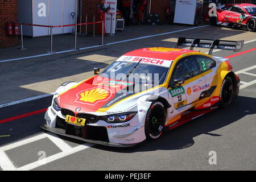
[[[0,47],[18,44],[18,37],[6,34],[7,22],[18,22],[18,0],[0,0]]]

